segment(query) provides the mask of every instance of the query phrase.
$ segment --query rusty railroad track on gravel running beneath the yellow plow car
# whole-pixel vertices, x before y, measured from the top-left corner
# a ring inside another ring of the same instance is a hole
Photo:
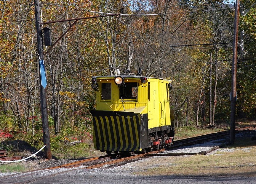
[[[241,131],[247,131],[247,130],[256,130],[256,127],[237,129],[236,131],[241,132]],[[178,144],[178,145],[177,146],[175,145],[169,149],[175,149],[175,148],[177,149],[178,147],[182,147],[185,145],[199,144],[202,142],[202,140],[204,140],[204,142],[205,142],[206,140],[216,139],[219,137],[227,136],[228,134],[230,134],[230,131],[212,133],[212,134],[207,134],[207,135],[203,135],[203,136],[178,140],[178,141],[175,141],[175,144]],[[4,177],[1,177],[0,181],[3,184],[4,183],[8,183],[8,184],[31,183],[31,182],[34,182],[37,180],[41,180],[43,178],[48,178],[48,177],[58,175],[61,173],[70,172],[71,170],[93,169],[93,168],[109,169],[109,168],[124,165],[129,162],[134,162],[136,160],[141,160],[143,158],[152,157],[152,156],[154,156],[153,154],[155,154],[155,153],[159,153],[159,152],[169,150],[169,149],[162,149],[162,150],[158,150],[158,151],[149,152],[146,154],[138,154],[138,155],[132,155],[129,157],[121,157],[121,158],[117,158],[118,155],[116,155],[116,154],[105,155],[105,156],[95,157],[95,158],[89,158],[89,159],[80,160],[80,161],[76,161],[76,162],[72,162],[72,163],[68,163],[68,164],[64,164],[64,165],[58,165],[55,167],[49,167],[49,168],[40,169],[40,170],[33,170],[33,171],[17,173],[17,174],[13,174],[13,175],[7,175]],[[213,149],[213,150],[215,150],[215,149]],[[65,168],[67,170],[61,170],[60,168]],[[59,170],[57,170],[57,169],[59,169]],[[46,170],[47,170],[47,172],[45,172]]]

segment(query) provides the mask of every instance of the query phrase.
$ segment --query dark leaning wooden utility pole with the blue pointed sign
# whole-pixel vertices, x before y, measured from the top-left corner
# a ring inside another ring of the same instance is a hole
[[[44,63],[44,54],[42,48],[42,29],[41,29],[41,17],[40,17],[40,6],[39,0],[34,0],[35,5],[35,16],[36,16],[36,36],[37,36],[37,50],[39,56],[39,67]],[[39,70],[39,76],[42,75],[41,70]],[[50,133],[49,133],[49,121],[48,121],[48,112],[47,112],[47,99],[46,99],[46,90],[42,85],[42,79],[40,80],[40,104],[41,104],[41,116],[42,116],[42,127],[43,127],[43,138],[44,144],[44,153],[47,159],[52,159],[51,144],[50,144]]]

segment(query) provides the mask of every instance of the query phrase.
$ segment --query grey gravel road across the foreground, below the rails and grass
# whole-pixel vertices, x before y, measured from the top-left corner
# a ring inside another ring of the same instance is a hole
[[[175,184],[206,184],[206,183],[225,183],[225,184],[255,184],[256,177],[245,178],[245,177],[205,177],[205,176],[139,176],[132,174],[133,170],[130,171],[122,170],[120,167],[118,170],[76,170],[65,174],[56,175],[51,178],[45,178],[44,180],[36,181],[34,184],[42,183],[55,183],[55,184],[155,184],[155,183],[175,183]]]

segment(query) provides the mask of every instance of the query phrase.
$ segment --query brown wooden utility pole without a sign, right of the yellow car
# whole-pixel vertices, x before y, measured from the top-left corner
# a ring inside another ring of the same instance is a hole
[[[236,139],[236,65],[237,65],[237,42],[238,42],[238,20],[239,20],[239,0],[236,0],[236,11],[234,20],[234,39],[233,39],[233,60],[231,78],[231,113],[230,113],[230,142]]]

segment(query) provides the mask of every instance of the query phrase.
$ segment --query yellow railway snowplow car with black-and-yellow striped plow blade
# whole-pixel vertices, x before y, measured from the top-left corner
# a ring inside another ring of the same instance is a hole
[[[140,76],[92,77],[96,90],[93,142],[96,150],[136,152],[173,143],[171,81]]]

